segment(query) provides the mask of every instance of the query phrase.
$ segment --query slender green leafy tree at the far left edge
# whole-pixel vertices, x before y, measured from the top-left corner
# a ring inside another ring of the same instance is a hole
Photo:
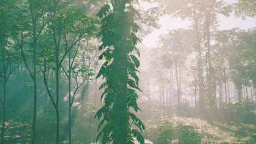
[[[0,1],[0,83],[3,85],[3,93],[0,104],[3,107],[1,144],[4,144],[5,122],[7,120],[7,83],[10,76],[20,65],[18,44],[18,33],[20,26],[16,15],[19,10],[15,1]],[[11,10],[13,13],[9,13]],[[17,23],[15,23],[17,22]]]

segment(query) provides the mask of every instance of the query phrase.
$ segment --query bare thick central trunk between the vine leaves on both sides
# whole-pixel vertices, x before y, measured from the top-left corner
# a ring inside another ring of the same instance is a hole
[[[126,1],[115,0],[113,4],[114,16],[114,61],[116,62],[117,69],[115,75],[119,79],[119,87],[117,91],[116,103],[113,105],[113,122],[117,125],[113,131],[113,144],[126,143],[127,139],[127,47],[126,39],[129,33],[129,27],[125,26],[123,21],[125,18],[125,4]]]

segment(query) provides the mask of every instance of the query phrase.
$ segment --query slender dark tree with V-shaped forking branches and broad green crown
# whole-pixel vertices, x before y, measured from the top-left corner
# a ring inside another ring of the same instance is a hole
[[[42,58],[40,61],[40,70],[44,77],[44,85],[56,112],[56,144],[60,142],[59,104],[62,62],[65,60],[66,56],[70,54],[70,51],[74,49],[75,46],[78,46],[82,39],[89,37],[89,35],[92,35],[94,31],[96,31],[95,23],[97,23],[94,19],[86,16],[82,9],[76,9],[74,6],[69,4],[70,2],[65,1],[50,1],[48,4],[49,23],[47,34],[50,36],[51,40],[47,42],[53,44],[50,46],[53,47],[54,51],[49,47],[43,46],[43,50],[40,55]],[[46,43],[44,45],[48,45]],[[53,65],[53,68],[49,67],[49,65]],[[54,70],[55,72],[55,99],[54,94],[50,92],[49,82],[46,79],[46,75],[49,73],[49,70]],[[66,71],[66,73],[68,72]],[[77,72],[75,73],[77,74]],[[80,86],[78,86],[78,88],[79,87]],[[69,102],[69,106],[72,106],[72,101],[73,100]]]

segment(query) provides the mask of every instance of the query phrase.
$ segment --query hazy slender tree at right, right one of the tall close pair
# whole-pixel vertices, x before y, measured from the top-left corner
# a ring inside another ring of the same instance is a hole
[[[205,27],[205,47],[207,49],[207,100],[211,116],[214,117],[216,110],[216,70],[214,69],[214,67],[212,67],[210,31],[217,22],[218,14],[229,16],[230,5],[226,5],[226,3],[222,0],[201,1],[201,13],[203,15],[203,23]]]

